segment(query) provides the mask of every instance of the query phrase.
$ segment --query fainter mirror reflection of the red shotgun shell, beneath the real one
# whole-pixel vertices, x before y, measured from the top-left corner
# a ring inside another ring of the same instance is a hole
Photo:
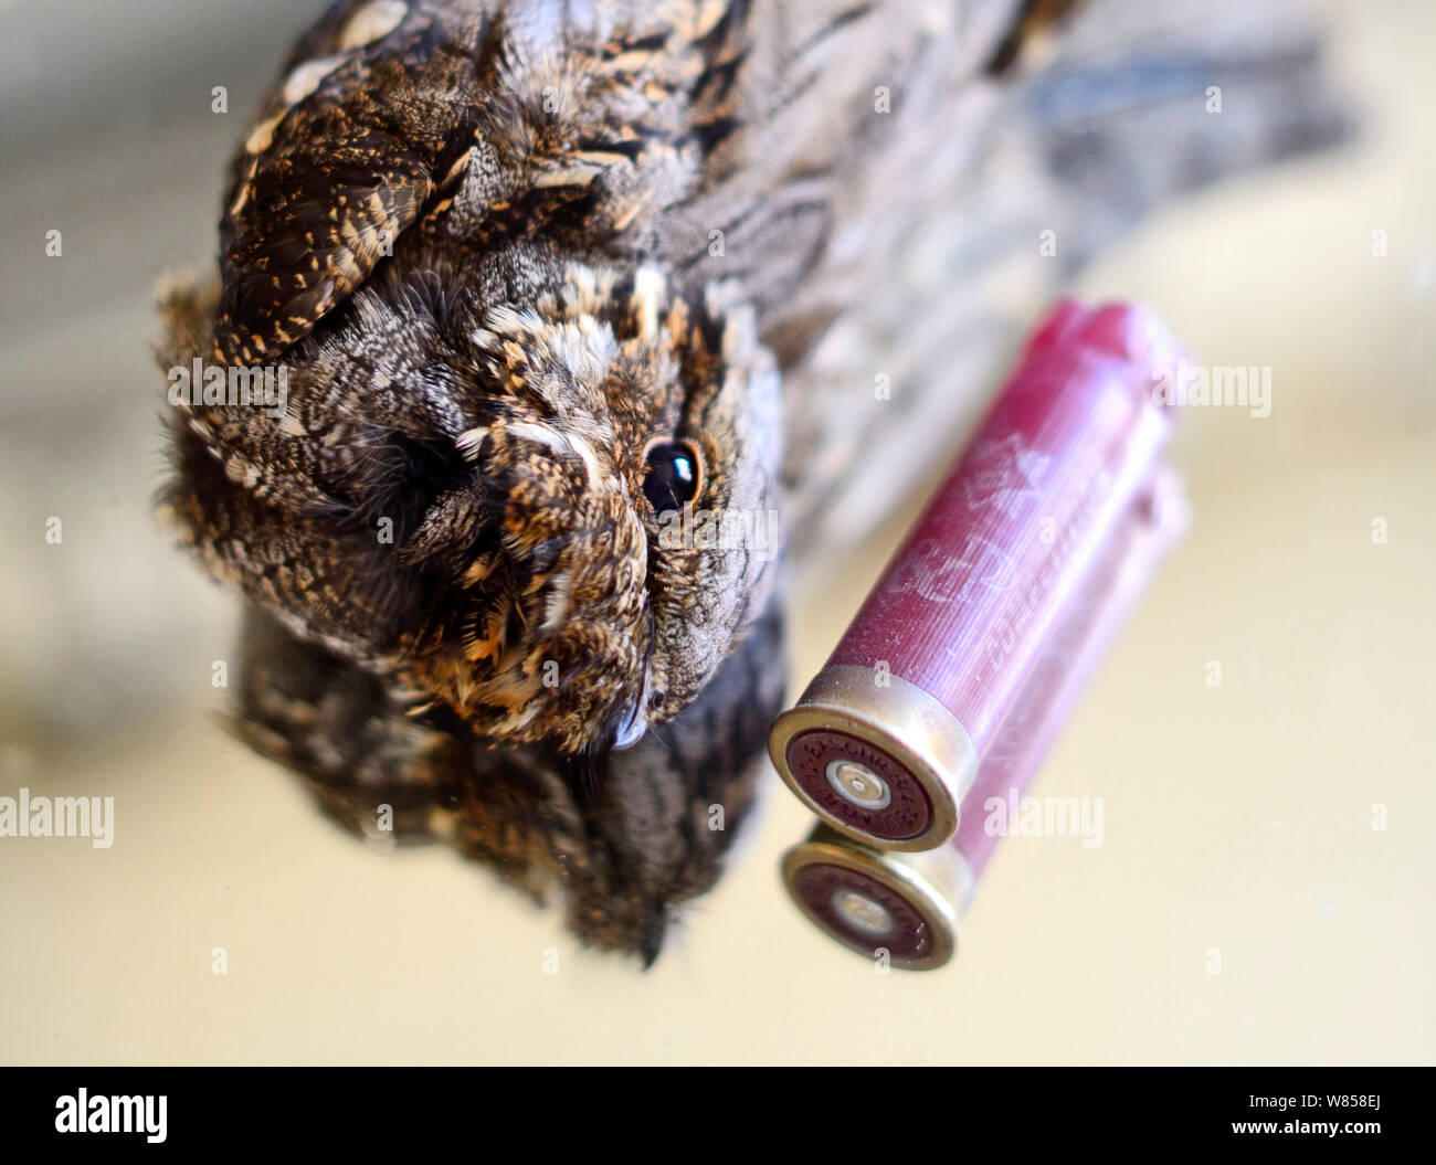
[[[895,967],[932,970],[952,958],[958,918],[966,912],[1002,839],[1002,831],[988,821],[994,799],[1004,805],[1021,799],[1107,646],[1186,522],[1180,482],[1163,469],[1130,508],[1111,548],[1084,580],[1048,640],[1031,683],[982,760],[968,793],[972,811],[964,815],[949,845],[926,852],[883,851],[820,822],[807,841],[787,852],[783,879],[814,924],[869,958],[886,950]]]

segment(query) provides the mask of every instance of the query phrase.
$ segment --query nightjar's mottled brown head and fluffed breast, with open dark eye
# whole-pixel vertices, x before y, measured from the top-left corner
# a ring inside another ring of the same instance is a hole
[[[207,306],[171,298],[168,359]],[[180,413],[211,568],[498,743],[625,746],[765,605],[778,376],[728,287],[527,248],[379,273],[284,354],[276,418]]]

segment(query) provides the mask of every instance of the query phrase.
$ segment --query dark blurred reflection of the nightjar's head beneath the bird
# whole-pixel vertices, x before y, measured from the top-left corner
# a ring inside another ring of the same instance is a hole
[[[590,945],[652,961],[748,821],[783,694],[774,603],[702,699],[589,765],[494,747],[442,709],[405,714],[370,671],[250,608],[236,732],[370,844],[452,845]]]

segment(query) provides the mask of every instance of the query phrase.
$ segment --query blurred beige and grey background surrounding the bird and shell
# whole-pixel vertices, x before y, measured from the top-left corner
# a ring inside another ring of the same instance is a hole
[[[237,610],[151,517],[151,291],[213,263],[230,151],[320,7],[4,4],[0,796],[116,822],[109,849],[0,838],[0,1060],[1436,1059],[1436,7],[1318,7],[1361,133],[1074,287],[1271,366],[1272,412],[1183,420],[1192,534],[1038,779],[1101,796],[1104,844],[1010,838],[956,961],[887,976],[784,897],[808,818],[771,773],[640,974],[445,849],[366,849],[220,729]],[[796,687],[902,528],[796,588]]]

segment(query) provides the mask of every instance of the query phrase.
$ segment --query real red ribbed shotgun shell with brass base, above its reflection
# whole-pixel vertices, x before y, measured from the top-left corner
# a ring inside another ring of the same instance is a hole
[[[1149,484],[1180,350],[1136,307],[1064,300],[768,752],[834,829],[932,849],[1043,644]]]

